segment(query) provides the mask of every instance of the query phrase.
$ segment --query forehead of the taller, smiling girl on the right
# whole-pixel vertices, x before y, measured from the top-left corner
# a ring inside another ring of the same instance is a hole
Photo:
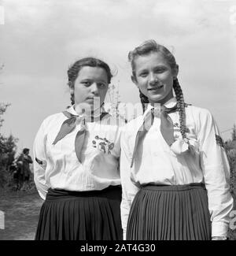
[[[170,65],[168,64],[168,61],[164,58],[163,54],[160,52],[151,52],[150,54],[138,56],[135,58],[135,69],[149,69],[153,68],[155,66],[168,66],[170,68]]]

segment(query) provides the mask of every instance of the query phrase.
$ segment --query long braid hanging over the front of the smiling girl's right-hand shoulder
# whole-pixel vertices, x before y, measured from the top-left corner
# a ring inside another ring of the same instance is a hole
[[[185,102],[183,99],[183,91],[179,85],[179,81],[176,78],[173,81],[173,88],[175,90],[175,96],[177,99],[177,106],[179,111],[179,124],[180,124],[180,132],[183,139],[186,139],[186,113],[185,113]]]

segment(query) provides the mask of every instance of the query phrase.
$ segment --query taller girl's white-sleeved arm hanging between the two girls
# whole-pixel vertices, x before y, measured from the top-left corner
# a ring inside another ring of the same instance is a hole
[[[120,205],[121,222],[124,233],[124,239],[126,239],[127,220],[131,209],[131,203],[138,192],[138,187],[131,183],[131,161],[129,161],[129,151],[127,149],[127,139],[123,132],[120,138],[120,179],[122,185],[122,201]]]

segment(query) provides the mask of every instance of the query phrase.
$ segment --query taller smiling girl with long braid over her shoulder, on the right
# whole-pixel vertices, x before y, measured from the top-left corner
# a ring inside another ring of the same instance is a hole
[[[129,61],[144,113],[121,135],[124,239],[226,239],[230,170],[212,114],[184,102],[166,47],[146,41]]]

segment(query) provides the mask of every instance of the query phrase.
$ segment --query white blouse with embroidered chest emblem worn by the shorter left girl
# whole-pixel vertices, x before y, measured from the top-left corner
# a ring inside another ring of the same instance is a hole
[[[120,184],[120,120],[107,114],[101,121],[86,123],[80,163],[74,144],[81,116],[73,107],[67,111],[78,117],[71,133],[53,145],[61,124],[68,119],[63,113],[56,113],[42,122],[35,137],[34,179],[43,199],[49,187],[92,191]]]

